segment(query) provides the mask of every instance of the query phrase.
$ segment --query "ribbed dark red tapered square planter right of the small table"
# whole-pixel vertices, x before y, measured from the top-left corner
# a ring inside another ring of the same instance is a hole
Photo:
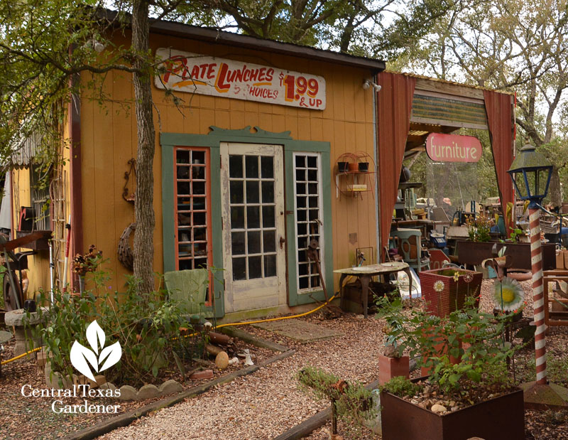
[[[452,311],[459,310],[464,307],[466,296],[475,296],[479,305],[479,294],[481,293],[481,281],[484,276],[481,272],[472,270],[459,269],[459,272],[471,274],[471,281],[466,283],[464,275],[460,275],[457,281],[453,275],[446,276],[454,269],[433,269],[423,270],[419,272],[420,289],[422,289],[422,297],[427,302],[427,311],[435,316],[447,316]],[[434,284],[436,281],[442,281],[444,288],[442,291],[436,291]]]

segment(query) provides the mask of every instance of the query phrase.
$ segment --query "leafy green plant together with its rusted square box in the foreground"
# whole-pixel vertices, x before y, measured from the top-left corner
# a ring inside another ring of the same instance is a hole
[[[383,440],[524,438],[523,391],[506,370],[515,348],[501,339],[506,317],[479,312],[472,300],[443,317],[418,309],[403,313],[399,300],[379,302],[388,337],[419,367],[430,368],[427,377],[395,377],[381,388]]]

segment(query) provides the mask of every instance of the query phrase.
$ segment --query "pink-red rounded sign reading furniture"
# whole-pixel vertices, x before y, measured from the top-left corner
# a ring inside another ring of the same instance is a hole
[[[474,136],[430,133],[426,153],[437,162],[477,162],[481,159],[481,142]]]

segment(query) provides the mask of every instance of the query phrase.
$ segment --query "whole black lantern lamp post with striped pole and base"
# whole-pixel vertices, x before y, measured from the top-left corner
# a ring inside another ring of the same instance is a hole
[[[540,247],[540,205],[546,197],[550,176],[552,175],[552,163],[542,154],[535,151],[535,147],[527,144],[520,149],[517,157],[507,171],[513,179],[515,191],[520,199],[529,200],[529,226],[530,226],[530,259],[532,269],[532,299],[534,306],[535,321],[535,359],[536,359],[536,382],[530,382],[523,386],[525,390],[525,407],[550,407],[550,397],[555,395],[557,399],[552,406],[565,407],[566,401],[559,395],[564,392],[558,385],[547,383],[546,374],[546,325],[544,292],[542,289],[542,249]],[[552,388],[551,388],[552,387]],[[564,389],[562,389],[564,390]]]

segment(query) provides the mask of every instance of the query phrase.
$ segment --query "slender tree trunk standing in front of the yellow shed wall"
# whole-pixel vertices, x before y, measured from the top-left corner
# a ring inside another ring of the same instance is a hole
[[[150,46],[148,0],[134,0],[132,4],[133,65],[140,71],[133,74],[136,97],[136,125],[138,153],[136,156],[136,232],[134,233],[134,277],[140,281],[138,292],[154,290],[154,227],[155,215],[153,160],[155,132],[152,108],[151,71],[146,56]]]

